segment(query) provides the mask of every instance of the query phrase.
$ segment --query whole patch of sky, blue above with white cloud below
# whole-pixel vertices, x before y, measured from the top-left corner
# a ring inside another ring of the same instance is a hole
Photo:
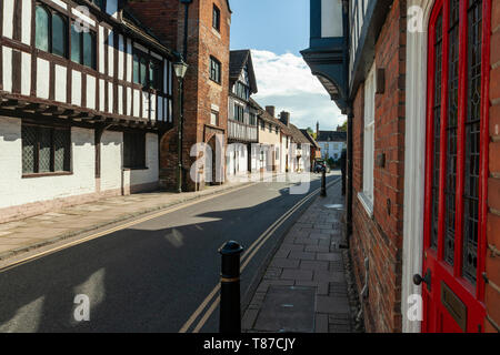
[[[251,49],[260,105],[291,113],[299,128],[334,130],[346,118],[311,74],[300,51],[309,47],[309,0],[230,0],[231,49]]]

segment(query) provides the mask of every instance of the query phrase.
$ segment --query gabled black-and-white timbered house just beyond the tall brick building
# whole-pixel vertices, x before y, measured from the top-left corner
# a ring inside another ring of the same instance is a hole
[[[227,174],[237,175],[257,169],[257,153],[252,143],[258,142],[257,120],[259,109],[250,97],[257,93],[250,50],[230,52],[229,74],[229,118]]]

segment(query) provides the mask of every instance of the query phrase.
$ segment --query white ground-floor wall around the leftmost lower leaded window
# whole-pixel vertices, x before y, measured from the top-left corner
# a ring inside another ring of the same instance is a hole
[[[21,120],[0,116],[0,209],[96,191],[93,131],[72,128],[72,175],[22,179]]]

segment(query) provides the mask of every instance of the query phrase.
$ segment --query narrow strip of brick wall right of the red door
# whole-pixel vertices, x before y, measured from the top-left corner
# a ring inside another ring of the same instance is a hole
[[[500,250],[500,2],[492,0],[491,16],[491,73],[490,73],[490,152],[488,181],[488,225],[487,247]],[[500,285],[500,256],[487,251],[486,273],[488,278]],[[484,303],[489,320],[484,321],[486,332],[498,332],[492,323],[500,325],[500,293],[486,285]]]

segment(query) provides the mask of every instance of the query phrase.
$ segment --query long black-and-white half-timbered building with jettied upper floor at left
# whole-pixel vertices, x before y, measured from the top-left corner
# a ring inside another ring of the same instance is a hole
[[[174,53],[120,0],[0,0],[0,217],[153,189]]]

